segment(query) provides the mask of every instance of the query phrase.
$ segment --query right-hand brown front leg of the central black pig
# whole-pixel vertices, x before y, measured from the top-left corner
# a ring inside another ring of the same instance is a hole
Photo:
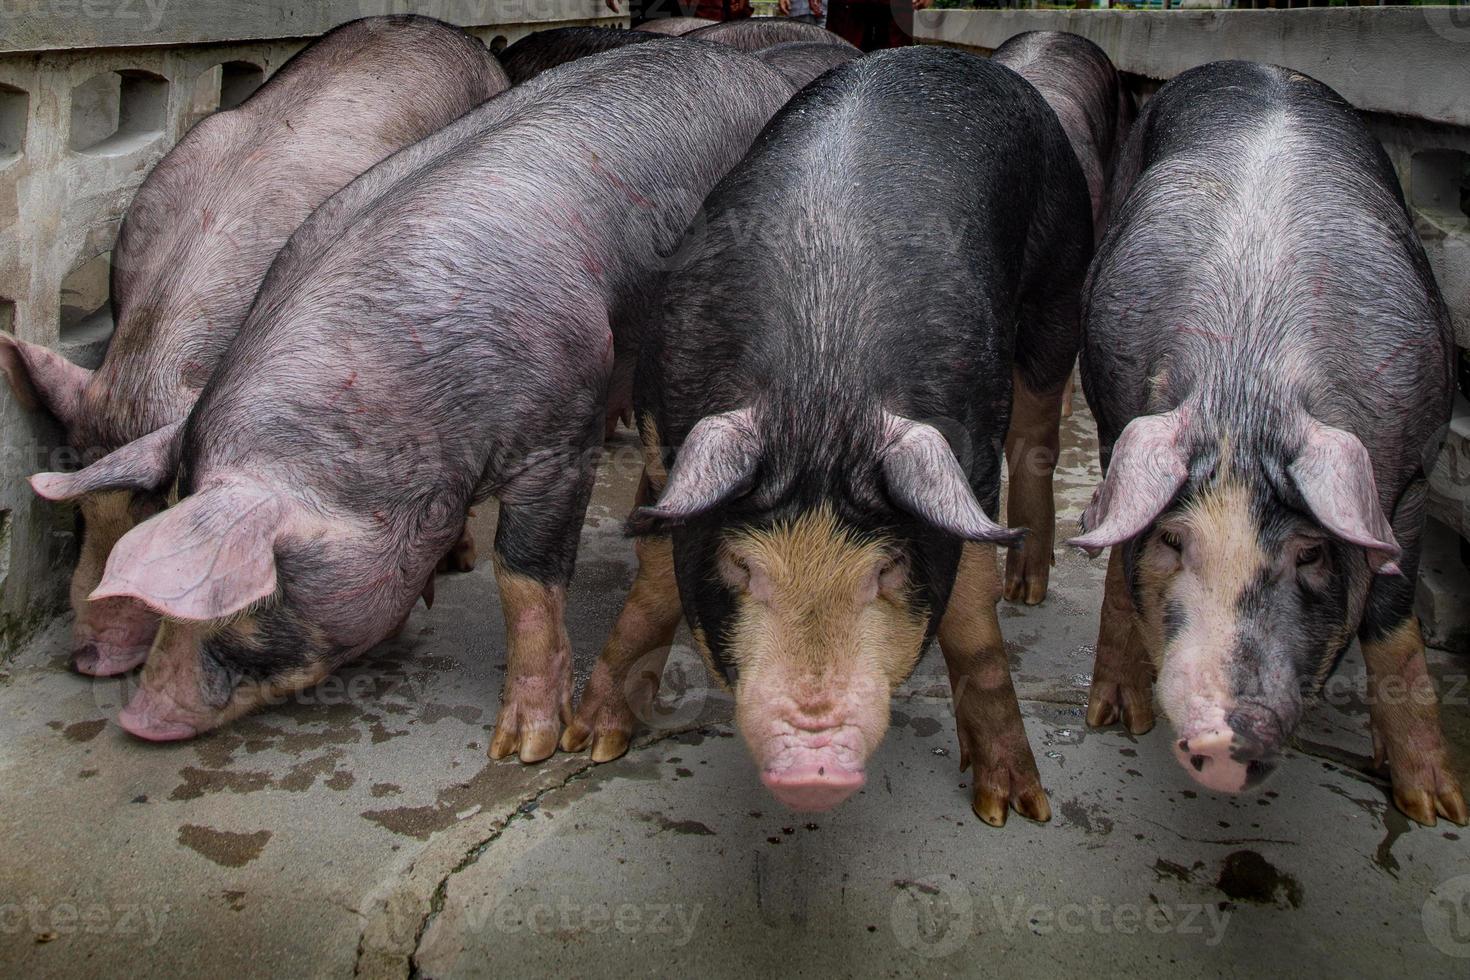
[[[1005,824],[1008,807],[1032,820],[1051,820],[1011,686],[1005,641],[995,619],[998,599],[995,550],[964,545],[950,608],[939,621],[939,649],[954,691],[960,771],[975,763],[972,807],[992,827]]]

